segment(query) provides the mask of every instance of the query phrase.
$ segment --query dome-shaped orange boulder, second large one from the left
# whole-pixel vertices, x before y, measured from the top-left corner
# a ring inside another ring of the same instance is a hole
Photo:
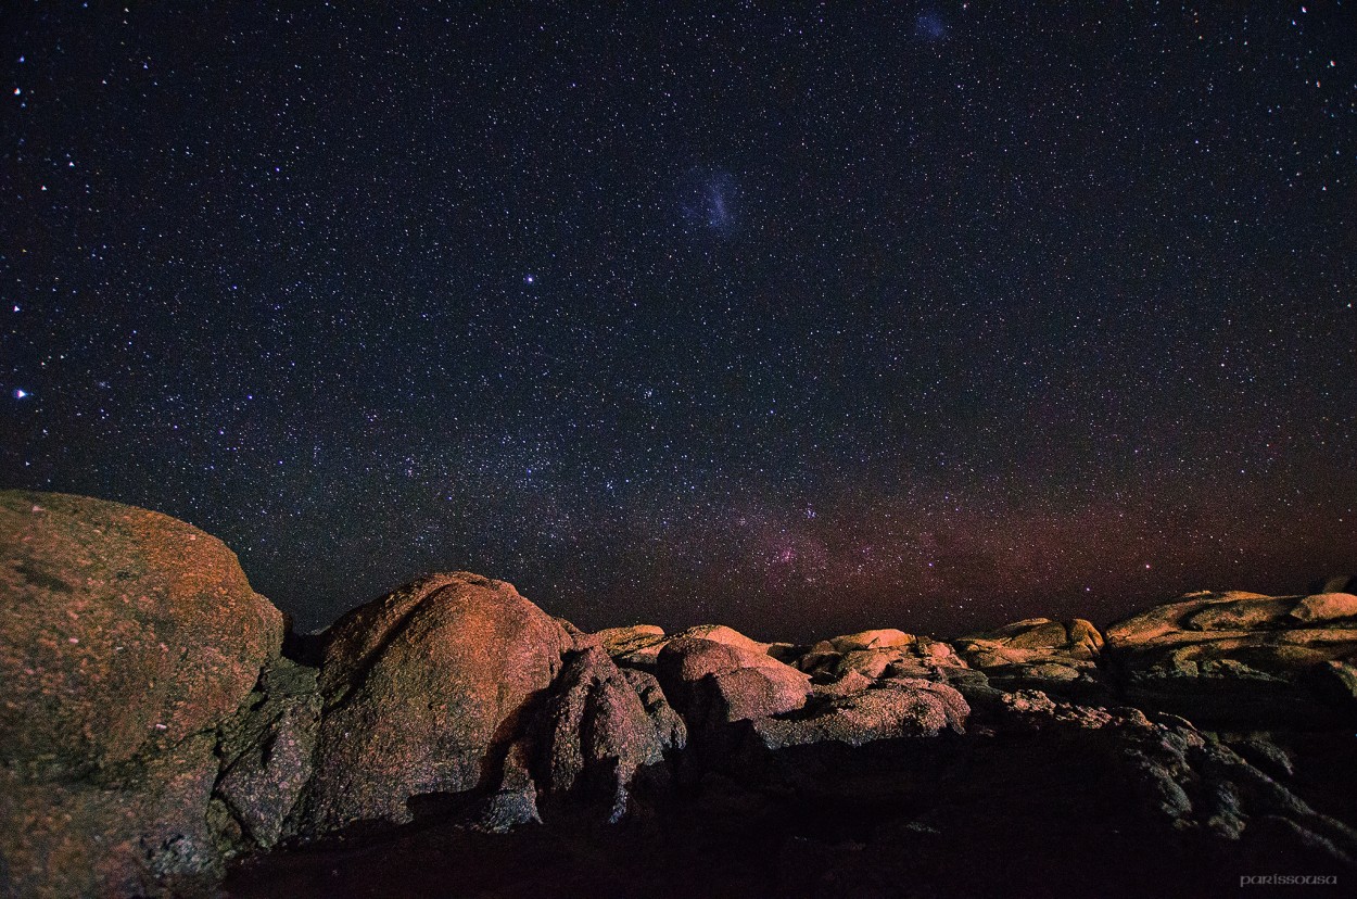
[[[410,800],[493,792],[575,640],[503,581],[436,574],[331,627],[305,831],[407,822]]]

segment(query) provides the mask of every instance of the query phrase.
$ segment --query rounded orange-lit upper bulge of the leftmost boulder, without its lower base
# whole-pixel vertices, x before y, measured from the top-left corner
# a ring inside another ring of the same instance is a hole
[[[235,712],[282,615],[235,553],[145,509],[0,493],[0,758],[69,774]]]

